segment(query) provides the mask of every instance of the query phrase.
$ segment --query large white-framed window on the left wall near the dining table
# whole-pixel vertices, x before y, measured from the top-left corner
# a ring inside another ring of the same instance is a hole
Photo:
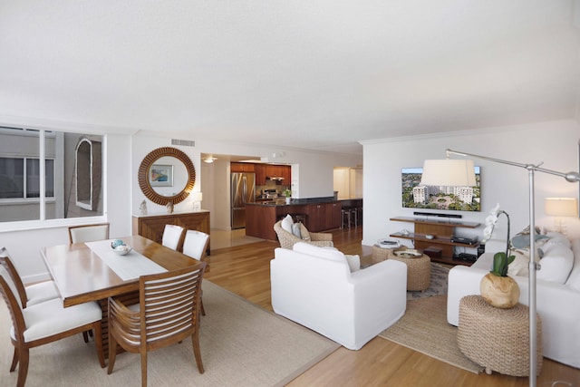
[[[0,223],[102,216],[102,140],[99,135],[0,127]],[[95,144],[94,164],[77,174],[76,150],[84,141]],[[79,189],[93,192],[92,206],[79,206]]]

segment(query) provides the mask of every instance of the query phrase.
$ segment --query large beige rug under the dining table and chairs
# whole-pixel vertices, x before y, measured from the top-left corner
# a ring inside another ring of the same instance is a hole
[[[195,363],[191,341],[149,353],[150,386],[281,386],[339,344],[271,314],[209,281],[203,283],[207,315],[201,317],[200,345],[205,372]],[[14,347],[6,305],[0,302],[0,385],[14,386],[9,372]],[[31,350],[27,387],[140,385],[140,355],[121,353],[107,375],[94,343],[76,335]]]

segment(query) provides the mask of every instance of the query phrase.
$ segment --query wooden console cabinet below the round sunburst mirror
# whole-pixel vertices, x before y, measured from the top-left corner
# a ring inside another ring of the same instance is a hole
[[[177,225],[186,230],[198,230],[209,235],[209,211],[202,209],[193,212],[175,212],[173,214],[133,215],[133,235],[146,237],[161,243],[165,225]],[[209,271],[209,254],[211,238],[209,238],[206,271]],[[183,250],[183,238],[179,241],[178,251]]]

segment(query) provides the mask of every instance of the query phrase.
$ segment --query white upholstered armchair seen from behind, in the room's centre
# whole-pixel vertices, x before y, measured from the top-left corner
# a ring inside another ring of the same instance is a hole
[[[270,262],[276,314],[358,350],[405,313],[407,267],[389,259],[363,269],[333,247],[278,247]],[[353,272],[351,272],[351,269]]]

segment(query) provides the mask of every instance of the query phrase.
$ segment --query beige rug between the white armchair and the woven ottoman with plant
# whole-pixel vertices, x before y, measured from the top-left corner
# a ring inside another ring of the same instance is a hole
[[[483,371],[459,351],[457,327],[447,322],[446,295],[407,301],[401,320],[379,336],[466,371]]]

